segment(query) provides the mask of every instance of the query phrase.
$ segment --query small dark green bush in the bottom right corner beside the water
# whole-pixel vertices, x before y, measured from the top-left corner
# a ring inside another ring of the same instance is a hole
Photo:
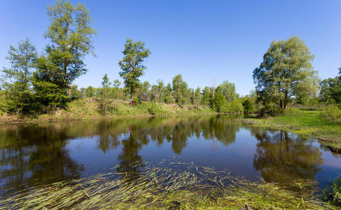
[[[323,199],[337,207],[341,207],[341,176],[324,187]]]

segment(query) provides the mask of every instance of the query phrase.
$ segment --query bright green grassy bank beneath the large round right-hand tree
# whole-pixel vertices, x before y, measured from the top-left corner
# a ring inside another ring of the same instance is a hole
[[[341,152],[341,125],[321,118],[320,109],[292,109],[281,116],[265,119],[239,119],[252,126],[287,130],[318,138],[332,151]]]

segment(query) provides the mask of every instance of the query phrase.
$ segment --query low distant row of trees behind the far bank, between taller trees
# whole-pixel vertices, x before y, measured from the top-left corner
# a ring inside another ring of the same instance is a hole
[[[105,74],[101,87],[82,87],[77,89],[77,85],[70,88],[69,94],[72,99],[82,97],[94,97],[100,106],[99,111],[105,113],[110,109],[110,104],[115,99],[129,101],[131,95],[125,87],[121,87],[119,80],[109,82]],[[220,113],[241,113],[245,109],[245,97],[239,97],[236,93],[236,87],[233,83],[224,81],[217,87],[197,87],[193,89],[188,87],[182,76],[174,76],[172,83],[167,85],[162,80],[157,80],[156,85],[150,85],[145,81],[136,88],[136,96],[133,102],[137,104],[142,102],[178,104],[184,106],[192,104],[197,106],[210,106],[211,109]],[[251,106],[251,105],[250,105]],[[251,111],[251,110],[250,110]]]

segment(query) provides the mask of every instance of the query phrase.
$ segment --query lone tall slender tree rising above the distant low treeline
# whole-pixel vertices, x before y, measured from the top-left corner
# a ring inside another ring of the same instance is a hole
[[[124,43],[123,59],[118,63],[122,71],[120,76],[124,80],[124,85],[129,91],[131,102],[136,90],[139,88],[141,77],[146,69],[143,62],[150,55],[150,50],[144,47],[145,43],[141,41],[133,42],[127,38]]]

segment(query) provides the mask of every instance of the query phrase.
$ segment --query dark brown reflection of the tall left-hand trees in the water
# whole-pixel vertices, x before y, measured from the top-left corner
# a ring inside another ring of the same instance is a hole
[[[0,179],[4,183],[1,190],[77,178],[84,169],[65,148],[65,130],[54,126],[6,127],[0,130],[0,142]]]

